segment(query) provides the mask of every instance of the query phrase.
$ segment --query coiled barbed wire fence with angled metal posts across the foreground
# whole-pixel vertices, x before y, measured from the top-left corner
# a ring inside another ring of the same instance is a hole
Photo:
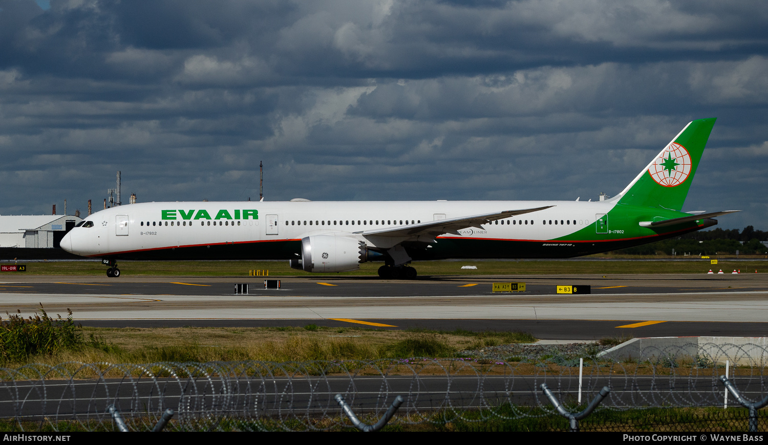
[[[0,368],[0,418],[25,431],[158,430],[163,418],[164,430],[346,430],[389,410],[392,430],[765,431],[766,361],[761,344],[686,344],[585,357],[583,367],[557,354],[29,364]],[[598,394],[594,411],[567,418]]]

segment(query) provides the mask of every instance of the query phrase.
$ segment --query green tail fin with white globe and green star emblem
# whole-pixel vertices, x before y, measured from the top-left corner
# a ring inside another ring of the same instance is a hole
[[[715,118],[688,124],[614,199],[631,206],[682,209],[714,124]]]

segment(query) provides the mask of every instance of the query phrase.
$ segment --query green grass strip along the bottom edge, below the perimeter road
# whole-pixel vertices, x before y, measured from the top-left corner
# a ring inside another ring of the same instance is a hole
[[[577,409],[575,406],[569,407]],[[261,417],[258,420],[221,417],[215,425],[211,419],[187,420],[184,430],[214,430],[223,431],[276,431],[276,430],[330,430],[356,431],[349,425],[349,420],[340,417],[336,411],[323,417],[289,417],[280,419]],[[758,411],[758,431],[768,427],[768,413]],[[378,420],[374,414],[360,414],[363,422],[373,424]],[[132,427],[148,429],[155,419],[127,419]],[[746,410],[740,407],[645,407],[626,410],[598,408],[594,413],[579,421],[581,431],[620,431],[639,433],[667,433],[711,431],[742,433],[747,430]],[[194,425],[197,424],[197,428]],[[46,431],[113,431],[110,421],[90,423],[58,421],[55,424],[45,422],[22,421],[21,427],[28,432]],[[177,420],[171,420],[166,430],[178,430]],[[190,428],[191,427],[191,428]],[[0,431],[20,431],[15,419],[0,420]],[[403,416],[396,414],[382,431],[567,431],[568,420],[554,414],[549,407],[525,407],[502,404],[498,407],[482,410],[452,409],[452,410],[422,410],[419,414]]]

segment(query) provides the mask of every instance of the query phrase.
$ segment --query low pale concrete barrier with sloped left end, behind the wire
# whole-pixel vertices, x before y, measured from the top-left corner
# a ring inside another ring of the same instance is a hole
[[[663,360],[675,358],[732,364],[768,364],[766,337],[649,337],[633,338],[598,354],[613,360]]]

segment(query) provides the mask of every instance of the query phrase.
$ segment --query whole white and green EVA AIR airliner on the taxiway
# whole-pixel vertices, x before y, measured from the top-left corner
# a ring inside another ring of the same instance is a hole
[[[717,224],[683,213],[715,119],[694,120],[617,196],[604,201],[138,203],[105,209],[61,240],[77,255],[119,259],[286,259],[306,272],[380,261],[382,278],[415,278],[428,259],[569,258]]]

